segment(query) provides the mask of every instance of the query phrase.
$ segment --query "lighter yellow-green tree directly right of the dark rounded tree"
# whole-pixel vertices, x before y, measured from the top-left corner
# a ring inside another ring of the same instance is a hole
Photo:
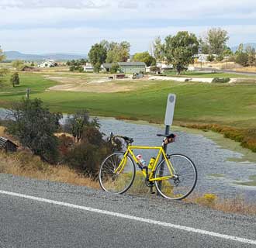
[[[121,43],[106,43],[105,47],[108,47],[107,50],[107,63],[117,63],[117,62],[126,62],[130,57],[130,43],[123,41]]]

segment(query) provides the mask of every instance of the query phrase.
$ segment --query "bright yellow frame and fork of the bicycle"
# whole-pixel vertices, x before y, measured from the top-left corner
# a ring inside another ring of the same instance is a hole
[[[136,149],[158,150],[157,157],[156,157],[156,160],[155,160],[154,165],[152,167],[152,170],[148,174],[147,174],[147,171],[144,171],[144,168],[141,167],[140,162],[137,160],[137,157],[133,153],[133,150],[136,150]],[[126,165],[126,160],[127,160],[127,157],[128,157],[129,154],[131,155],[131,157],[133,158],[133,160],[135,161],[137,166],[140,168],[140,170],[144,174],[144,177],[148,176],[148,181],[151,181],[151,182],[152,181],[162,181],[162,180],[167,180],[167,179],[175,177],[175,169],[172,166],[171,162],[168,160],[168,157],[167,157],[166,153],[164,152],[163,146],[127,146],[127,150],[123,155],[123,159],[120,161],[119,166],[116,168],[114,173],[121,173],[123,171],[123,168]],[[155,177],[154,178],[154,171],[157,167],[157,164],[160,160],[161,155],[164,157],[164,160],[165,160],[166,164],[168,165],[168,169],[170,171],[170,176]]]

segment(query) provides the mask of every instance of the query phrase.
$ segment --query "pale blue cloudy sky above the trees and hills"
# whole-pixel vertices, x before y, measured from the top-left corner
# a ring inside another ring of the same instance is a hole
[[[100,40],[150,50],[156,36],[226,29],[234,47],[256,43],[255,0],[0,0],[0,46],[22,53],[88,53]]]

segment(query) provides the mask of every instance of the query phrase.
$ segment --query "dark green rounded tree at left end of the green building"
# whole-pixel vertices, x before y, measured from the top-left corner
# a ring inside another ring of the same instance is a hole
[[[99,72],[100,66],[106,62],[106,55],[107,50],[101,44],[96,43],[92,46],[88,53],[88,57],[95,68],[95,72]]]

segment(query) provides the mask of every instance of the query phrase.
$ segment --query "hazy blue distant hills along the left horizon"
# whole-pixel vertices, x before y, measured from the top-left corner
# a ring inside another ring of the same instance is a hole
[[[81,60],[87,58],[85,54],[72,53],[46,53],[46,54],[26,54],[17,51],[6,51],[6,60]]]

